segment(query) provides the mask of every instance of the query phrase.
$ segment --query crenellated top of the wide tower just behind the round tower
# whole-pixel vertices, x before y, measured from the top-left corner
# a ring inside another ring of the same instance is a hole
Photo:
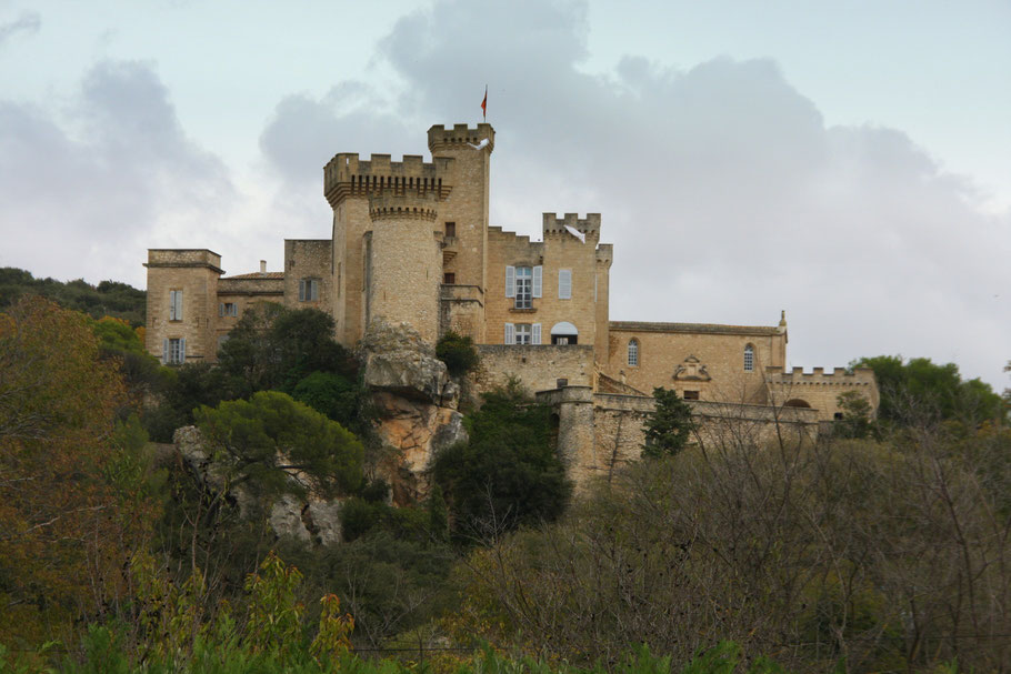
[[[452,191],[452,164],[451,157],[426,162],[420,154],[404,154],[403,161],[392,161],[389,154],[372,154],[362,160],[358,153],[341,152],[323,167],[323,195],[331,208],[348,197],[381,192],[432,192],[444,200]]]

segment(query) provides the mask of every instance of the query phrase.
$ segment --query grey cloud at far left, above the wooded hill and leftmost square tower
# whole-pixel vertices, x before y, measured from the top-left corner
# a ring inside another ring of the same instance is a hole
[[[149,64],[98,63],[61,118],[0,100],[0,264],[140,283],[144,249],[194,245],[234,199]]]

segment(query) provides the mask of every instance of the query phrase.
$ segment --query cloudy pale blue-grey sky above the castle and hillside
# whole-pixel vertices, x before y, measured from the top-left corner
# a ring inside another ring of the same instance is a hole
[[[337,152],[496,128],[491,223],[602,214],[612,320],[774,325],[788,364],[1011,359],[1007,0],[0,0],[0,266],[280,270]]]

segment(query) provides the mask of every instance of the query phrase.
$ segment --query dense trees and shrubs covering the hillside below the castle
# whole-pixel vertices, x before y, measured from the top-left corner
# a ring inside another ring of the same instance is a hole
[[[880,421],[845,400],[817,444],[702,442],[661,391],[642,460],[578,497],[510,386],[398,507],[331,335],[264,306],[218,365],[167,369],[121,319],[0,313],[0,672],[391,673],[354,653],[419,646],[476,673],[1011,662],[1011,431],[953,365],[867,359]],[[148,442],[193,423],[210,476]],[[341,499],[341,544],[268,525],[309,491]]]

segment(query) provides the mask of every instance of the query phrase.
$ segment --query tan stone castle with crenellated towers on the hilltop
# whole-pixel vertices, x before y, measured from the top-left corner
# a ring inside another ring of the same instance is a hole
[[[434,125],[428,145],[429,162],[334,155],[323,169],[331,235],[287,239],[283,271],[261,262],[224,276],[212,251],[149,250],[147,349],[166,363],[212,362],[242,313],[273,301],[329,312],[349,346],[379,320],[410,323],[431,343],[470,335],[480,386],[519,378],[561,416],[583,410],[591,427],[609,411],[647,410],[654,386],[701,415],[727,416],[732,403],[733,414],[781,419],[785,408],[808,426],[839,419],[847,391],[877,409],[870,370],[785,370],[784,315],[761,326],[611,321],[613,247],[600,243],[600,214],[544,213],[542,241],[491,227],[492,127]]]

